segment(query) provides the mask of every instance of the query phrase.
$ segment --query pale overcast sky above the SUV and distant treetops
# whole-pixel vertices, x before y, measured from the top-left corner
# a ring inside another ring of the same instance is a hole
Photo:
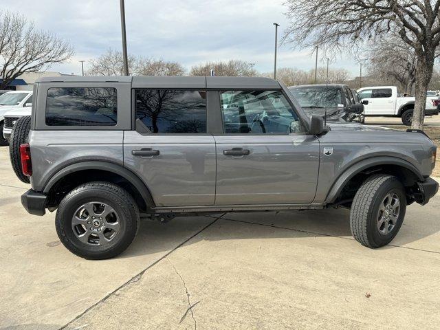
[[[76,50],[72,60],[50,71],[80,74],[78,61],[98,57],[109,48],[121,50],[118,0],[15,0],[4,1],[1,7],[21,12],[38,28],[72,43]],[[178,61],[187,69],[206,61],[240,59],[270,72],[272,23],[281,25],[279,36],[287,27],[283,0],[126,0],[125,12],[129,54]],[[278,67],[312,69],[311,52],[282,45]],[[347,56],[340,56],[332,66],[348,69],[353,76],[358,72],[358,65]]]

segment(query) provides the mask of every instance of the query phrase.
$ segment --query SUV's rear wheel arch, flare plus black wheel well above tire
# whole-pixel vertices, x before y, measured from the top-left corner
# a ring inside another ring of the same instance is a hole
[[[129,193],[133,196],[141,210],[155,207],[150,190],[135,173],[119,164],[105,161],[85,161],[69,164],[58,170],[47,180],[43,192],[53,197],[54,192],[63,182],[75,180],[76,186],[78,186],[78,184],[83,184],[87,181],[102,179],[108,179],[108,181],[120,184],[121,186],[121,183],[125,184],[126,187],[124,188],[129,190]]]

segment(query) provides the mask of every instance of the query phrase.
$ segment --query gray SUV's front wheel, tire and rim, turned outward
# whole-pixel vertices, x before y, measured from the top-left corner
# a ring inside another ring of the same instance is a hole
[[[398,212],[394,208],[395,197],[399,201]],[[388,201],[391,205],[387,209]],[[351,204],[351,234],[368,248],[380,248],[393,241],[405,212],[406,195],[401,182],[391,175],[372,175],[360,186]]]

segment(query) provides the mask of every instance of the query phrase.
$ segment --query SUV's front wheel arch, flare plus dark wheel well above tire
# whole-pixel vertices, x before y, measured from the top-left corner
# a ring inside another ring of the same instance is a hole
[[[351,180],[355,177],[365,179],[370,175],[382,173],[397,176],[404,186],[412,186],[416,181],[423,181],[423,175],[410,162],[392,156],[379,156],[363,159],[351,165],[333,182],[325,203],[333,203],[340,197]]]

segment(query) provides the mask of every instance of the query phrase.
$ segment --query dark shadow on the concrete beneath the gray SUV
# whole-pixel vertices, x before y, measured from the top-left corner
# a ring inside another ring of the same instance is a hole
[[[438,223],[424,226],[423,230],[414,230],[414,227],[422,220],[417,217],[418,209],[409,213],[409,217],[406,217],[404,225],[391,243],[393,246],[389,245],[389,248],[408,245],[440,231]],[[118,258],[165,252],[182,245],[187,240],[186,244],[194,244],[201,240],[276,238],[295,240],[334,236],[354,241],[350,230],[349,214],[350,211],[346,209],[229,212],[220,218],[213,216],[177,217],[169,223],[142,221],[137,238],[131,247]],[[235,225],[222,225],[226,222],[235,223]],[[243,224],[248,226],[248,230],[242,230]],[[252,226],[255,225],[263,225],[269,230],[254,230]],[[208,228],[203,230],[206,226]],[[182,231],[184,231],[183,234]],[[209,234],[206,234],[208,231]],[[440,243],[434,248],[440,252]]]

